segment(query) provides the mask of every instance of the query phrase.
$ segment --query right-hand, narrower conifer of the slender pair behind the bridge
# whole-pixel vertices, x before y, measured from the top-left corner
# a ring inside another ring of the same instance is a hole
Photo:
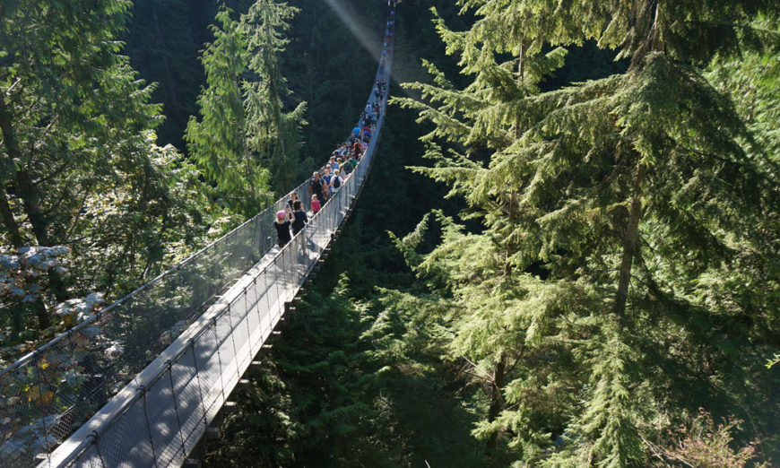
[[[284,34],[299,9],[273,0],[257,0],[242,16],[241,27],[247,37],[248,79],[244,82],[247,109],[247,144],[259,154],[273,176],[273,190],[290,190],[301,174],[297,153],[300,129],[306,125],[301,102],[290,112],[284,111],[284,100],[290,97],[282,76],[280,56],[290,39]]]

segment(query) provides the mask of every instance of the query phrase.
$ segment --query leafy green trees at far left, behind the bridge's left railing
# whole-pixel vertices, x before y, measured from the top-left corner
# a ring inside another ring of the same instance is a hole
[[[122,290],[106,270],[137,284],[177,238],[171,230],[191,220],[170,196],[169,149],[154,144],[154,87],[119,55],[129,7],[0,5],[0,241],[4,252],[63,246],[74,258],[67,275],[47,272],[41,300],[12,306],[32,311],[40,329],[56,325],[49,310],[72,293]]]

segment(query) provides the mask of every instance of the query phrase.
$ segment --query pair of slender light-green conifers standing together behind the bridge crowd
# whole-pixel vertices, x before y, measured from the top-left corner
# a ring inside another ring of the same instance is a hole
[[[271,201],[272,189],[289,190],[300,174],[306,104],[284,111],[290,91],[278,63],[296,11],[258,0],[236,21],[223,6],[202,57],[207,86],[198,98],[201,120],[190,117],[186,141],[221,201],[245,218]]]

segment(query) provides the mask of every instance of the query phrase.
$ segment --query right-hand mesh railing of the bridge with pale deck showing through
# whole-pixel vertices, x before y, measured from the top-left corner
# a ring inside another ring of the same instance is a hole
[[[365,162],[269,264],[226,291],[44,466],[183,464],[327,247]]]

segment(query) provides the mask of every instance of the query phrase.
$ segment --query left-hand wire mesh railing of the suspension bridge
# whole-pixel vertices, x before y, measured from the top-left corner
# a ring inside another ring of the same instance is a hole
[[[274,213],[284,204],[0,371],[0,465],[34,464],[117,394],[273,247]]]

